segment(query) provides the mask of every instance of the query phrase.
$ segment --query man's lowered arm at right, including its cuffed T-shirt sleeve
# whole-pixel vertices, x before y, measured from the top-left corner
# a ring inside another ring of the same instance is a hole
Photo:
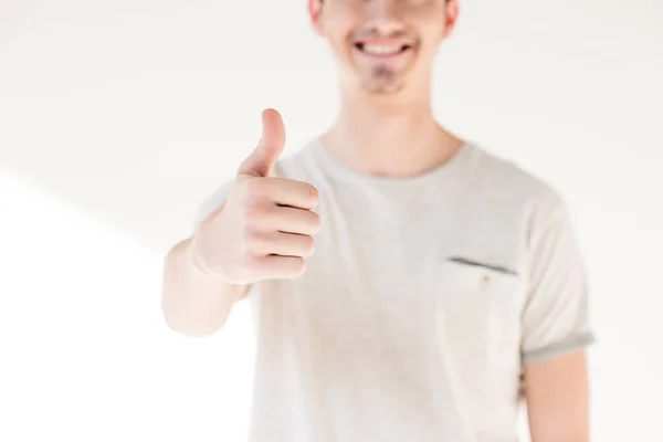
[[[533,442],[587,442],[589,324],[585,263],[564,202],[534,214],[523,317],[525,396]]]

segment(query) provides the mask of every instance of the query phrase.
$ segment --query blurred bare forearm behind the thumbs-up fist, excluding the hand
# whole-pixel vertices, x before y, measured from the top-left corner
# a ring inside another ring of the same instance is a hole
[[[208,336],[225,324],[248,286],[207,275],[193,264],[190,244],[190,240],[181,241],[165,260],[161,308],[173,330]]]

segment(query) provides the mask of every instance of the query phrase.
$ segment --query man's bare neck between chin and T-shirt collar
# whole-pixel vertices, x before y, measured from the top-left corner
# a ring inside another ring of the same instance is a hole
[[[343,94],[337,119],[320,141],[364,173],[393,178],[424,173],[449,160],[463,144],[434,119],[429,96]]]

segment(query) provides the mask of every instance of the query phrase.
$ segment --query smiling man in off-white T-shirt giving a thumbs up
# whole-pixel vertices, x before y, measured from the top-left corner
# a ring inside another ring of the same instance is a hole
[[[457,0],[309,0],[340,67],[329,130],[287,159],[277,112],[166,260],[192,336],[259,325],[253,441],[588,440],[587,290],[562,199],[439,125]],[[315,248],[315,254],[314,254]]]

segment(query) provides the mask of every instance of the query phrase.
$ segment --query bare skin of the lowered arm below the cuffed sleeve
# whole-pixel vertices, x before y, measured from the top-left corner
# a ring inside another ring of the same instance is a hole
[[[589,392],[585,351],[525,368],[532,442],[589,441]]]

